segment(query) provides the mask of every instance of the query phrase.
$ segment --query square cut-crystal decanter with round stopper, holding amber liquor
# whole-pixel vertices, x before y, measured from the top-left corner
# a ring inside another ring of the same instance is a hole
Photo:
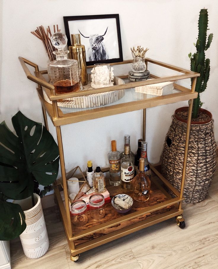
[[[78,76],[78,61],[68,59],[68,50],[64,50],[67,45],[65,34],[57,32],[51,37],[52,45],[57,48],[53,51],[56,60],[48,64],[49,83],[55,88],[55,93],[69,93],[80,90]]]

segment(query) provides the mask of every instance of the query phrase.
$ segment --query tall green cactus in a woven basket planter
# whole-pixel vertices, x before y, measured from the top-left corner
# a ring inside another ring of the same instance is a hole
[[[208,12],[201,9],[198,20],[196,52],[188,55],[191,70],[200,73],[195,91],[198,97],[193,100],[190,140],[185,176],[185,202],[201,202],[208,195],[208,188],[214,177],[217,159],[217,145],[214,139],[212,114],[201,108],[200,93],[206,89],[210,73],[210,60],[205,59],[205,51],[210,47],[213,34],[207,38]],[[191,81],[192,82],[192,81]],[[180,190],[188,107],[178,108],[172,117],[172,124],[166,135],[161,155],[162,174]]]

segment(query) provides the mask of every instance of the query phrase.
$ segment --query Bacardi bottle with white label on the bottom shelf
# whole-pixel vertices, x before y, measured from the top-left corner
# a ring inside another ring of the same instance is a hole
[[[132,192],[134,165],[129,156],[129,144],[124,145],[124,157],[121,159],[121,189],[125,193]]]

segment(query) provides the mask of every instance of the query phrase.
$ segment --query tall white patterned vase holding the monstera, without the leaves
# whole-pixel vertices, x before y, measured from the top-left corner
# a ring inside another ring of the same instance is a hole
[[[32,199],[16,201],[24,210],[26,229],[20,235],[24,254],[31,259],[43,256],[49,248],[49,238],[39,195],[34,193],[35,206],[31,208]],[[28,206],[29,205],[29,206]],[[25,210],[25,208],[30,208]]]

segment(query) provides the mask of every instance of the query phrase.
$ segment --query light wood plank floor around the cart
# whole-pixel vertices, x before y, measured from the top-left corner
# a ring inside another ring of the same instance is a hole
[[[209,196],[198,204],[183,205],[185,229],[172,218],[84,252],[77,262],[70,261],[57,208],[45,209],[48,252],[29,259],[15,239],[11,242],[12,269],[217,269],[218,169]]]

